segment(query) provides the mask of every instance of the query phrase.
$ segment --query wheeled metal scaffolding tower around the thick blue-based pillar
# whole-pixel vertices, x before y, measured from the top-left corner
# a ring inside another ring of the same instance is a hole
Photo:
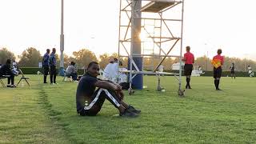
[[[183,11],[184,0],[120,0],[118,57],[129,58],[128,70],[122,71],[130,74],[129,92],[143,74],[166,74],[178,79],[178,95],[183,96]],[[178,74],[157,71],[166,58],[179,58]],[[145,59],[150,65],[143,66]]]

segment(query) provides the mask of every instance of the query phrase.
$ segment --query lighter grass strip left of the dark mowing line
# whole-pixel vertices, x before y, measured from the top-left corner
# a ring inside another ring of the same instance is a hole
[[[70,143],[44,109],[38,77],[30,78],[30,87],[0,87],[0,143]]]

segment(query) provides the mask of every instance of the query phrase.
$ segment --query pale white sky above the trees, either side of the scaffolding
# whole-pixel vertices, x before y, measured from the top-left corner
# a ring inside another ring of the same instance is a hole
[[[59,48],[61,0],[0,0],[0,48],[21,54],[33,46]],[[119,0],[64,0],[65,54],[88,48],[118,52]],[[184,47],[212,57],[221,47],[229,57],[256,60],[255,0],[186,0]],[[184,49],[183,49],[184,51]]]

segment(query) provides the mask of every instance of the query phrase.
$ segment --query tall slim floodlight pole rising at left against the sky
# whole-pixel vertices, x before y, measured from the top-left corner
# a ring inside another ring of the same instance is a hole
[[[59,66],[59,75],[64,76],[64,34],[63,34],[63,12],[64,9],[64,0],[62,0],[62,18],[61,18],[61,35],[60,35],[60,51],[61,51],[61,62],[60,62],[60,66]]]

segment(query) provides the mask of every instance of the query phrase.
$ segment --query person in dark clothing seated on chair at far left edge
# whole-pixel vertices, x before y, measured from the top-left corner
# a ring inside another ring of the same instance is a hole
[[[8,84],[7,87],[16,87],[14,85],[14,73],[12,73],[11,68],[10,68],[10,59],[6,60],[6,65],[1,66],[0,68],[0,77],[3,75],[9,75],[8,77]],[[11,84],[10,84],[11,82]]]

